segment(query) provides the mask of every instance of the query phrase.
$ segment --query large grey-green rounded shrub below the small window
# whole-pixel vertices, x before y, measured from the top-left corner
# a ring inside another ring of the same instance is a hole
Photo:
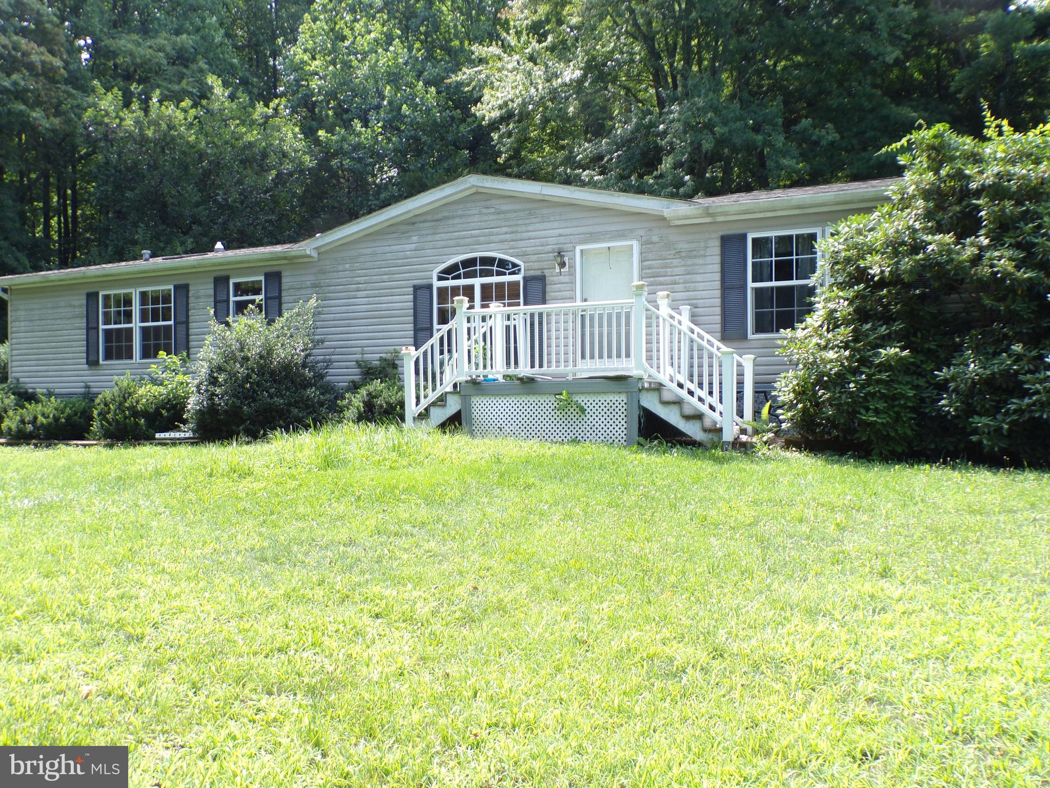
[[[249,309],[232,326],[212,325],[187,407],[198,436],[255,438],[331,415],[329,360],[315,354],[317,309],[312,298],[273,323]]]

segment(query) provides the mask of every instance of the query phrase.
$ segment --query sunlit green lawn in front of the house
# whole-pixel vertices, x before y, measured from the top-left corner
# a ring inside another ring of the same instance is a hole
[[[1042,785],[1050,476],[328,429],[0,450],[0,744],[134,786]]]

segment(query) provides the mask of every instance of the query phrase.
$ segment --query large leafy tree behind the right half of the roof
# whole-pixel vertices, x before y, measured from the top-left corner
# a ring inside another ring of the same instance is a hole
[[[1044,117],[1044,11],[948,11],[973,2],[522,0],[468,77],[511,171],[686,198],[872,178],[917,120],[980,122],[993,85]],[[985,55],[948,57],[960,39]],[[942,68],[936,96],[915,90]]]

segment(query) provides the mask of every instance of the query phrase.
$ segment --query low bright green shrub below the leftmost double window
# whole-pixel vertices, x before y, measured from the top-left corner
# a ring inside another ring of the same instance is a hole
[[[91,437],[100,440],[151,440],[159,432],[178,430],[186,421],[192,391],[185,356],[164,356],[149,374],[126,373],[94,400]]]

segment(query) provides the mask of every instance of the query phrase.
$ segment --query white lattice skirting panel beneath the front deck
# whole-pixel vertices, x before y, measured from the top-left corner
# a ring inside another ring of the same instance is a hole
[[[470,401],[471,433],[478,437],[525,440],[585,440],[627,443],[627,394],[573,394],[585,409],[559,410],[553,394],[475,396]]]

